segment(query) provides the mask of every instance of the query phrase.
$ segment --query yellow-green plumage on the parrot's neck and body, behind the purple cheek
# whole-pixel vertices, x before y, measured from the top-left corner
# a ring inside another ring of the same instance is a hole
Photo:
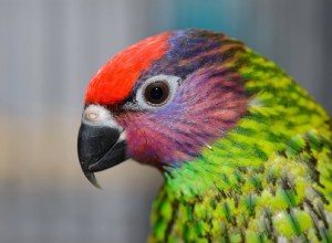
[[[329,115],[274,63],[236,56],[248,113],[197,160],[164,171],[149,241],[332,242]]]

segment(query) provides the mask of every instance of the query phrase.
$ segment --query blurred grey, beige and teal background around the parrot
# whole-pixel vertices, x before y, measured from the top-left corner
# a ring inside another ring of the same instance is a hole
[[[203,28],[277,62],[332,114],[332,1],[0,0],[0,242],[145,242],[163,180],[127,161],[84,178],[91,76],[125,46]]]

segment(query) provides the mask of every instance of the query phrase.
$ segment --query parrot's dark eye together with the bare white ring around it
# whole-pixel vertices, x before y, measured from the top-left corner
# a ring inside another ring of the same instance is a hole
[[[164,74],[148,78],[136,92],[136,101],[138,105],[143,109],[155,109],[165,106],[173,99],[175,92],[179,86],[179,81],[180,77]],[[154,84],[157,88],[157,91],[155,91],[157,95],[156,99],[146,97],[146,95],[149,95],[155,88],[153,86]],[[162,96],[158,97],[158,95]]]

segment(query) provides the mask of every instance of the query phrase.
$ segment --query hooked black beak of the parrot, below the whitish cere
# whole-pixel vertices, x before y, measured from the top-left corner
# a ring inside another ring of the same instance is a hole
[[[79,131],[79,159],[87,180],[101,188],[94,172],[108,169],[126,160],[126,142],[121,131],[108,126],[81,124]]]

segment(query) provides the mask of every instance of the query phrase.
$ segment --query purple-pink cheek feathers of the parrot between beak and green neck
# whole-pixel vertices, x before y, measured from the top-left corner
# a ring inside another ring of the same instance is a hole
[[[242,80],[227,68],[190,75],[170,104],[126,116],[128,154],[162,167],[197,157],[246,113]]]

